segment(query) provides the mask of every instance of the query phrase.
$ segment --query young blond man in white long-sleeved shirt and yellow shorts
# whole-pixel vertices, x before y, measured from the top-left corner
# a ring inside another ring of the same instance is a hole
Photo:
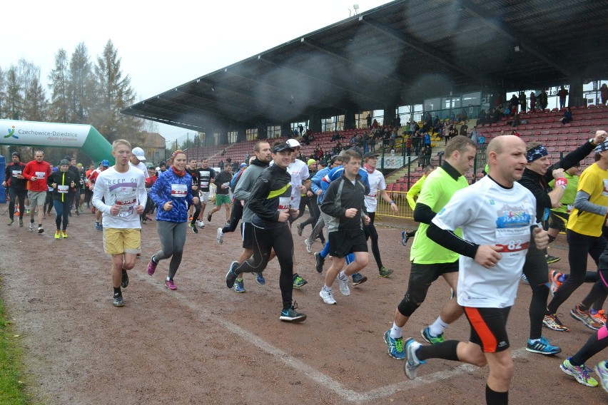
[[[136,256],[141,252],[139,215],[146,207],[148,194],[143,172],[129,165],[131,144],[115,140],[112,155],[116,165],[97,176],[93,205],[102,212],[103,249],[112,256],[113,304],[123,307],[121,287],[128,286],[127,270],[135,267]]]

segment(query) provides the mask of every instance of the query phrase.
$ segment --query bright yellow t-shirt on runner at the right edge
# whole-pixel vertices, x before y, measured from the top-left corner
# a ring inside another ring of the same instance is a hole
[[[589,202],[608,207],[608,170],[599,168],[597,163],[590,165],[581,174],[577,191],[589,194]],[[606,222],[604,215],[573,208],[567,228],[582,235],[599,237]]]

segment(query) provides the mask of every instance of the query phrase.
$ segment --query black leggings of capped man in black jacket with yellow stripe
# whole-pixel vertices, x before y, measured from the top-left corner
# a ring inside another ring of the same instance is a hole
[[[273,249],[280,266],[279,287],[283,309],[289,309],[293,294],[293,237],[287,224],[275,229],[253,226],[253,256],[241,263],[235,273],[263,272]]]

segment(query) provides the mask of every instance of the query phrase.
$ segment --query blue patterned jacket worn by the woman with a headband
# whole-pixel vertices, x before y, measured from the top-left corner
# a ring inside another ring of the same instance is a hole
[[[186,194],[181,194],[183,197],[178,197],[177,195],[180,195],[179,192],[184,187],[186,188]],[[173,195],[171,195],[171,190],[173,190]],[[157,221],[186,222],[188,221],[188,205],[192,204],[192,176],[186,173],[182,177],[178,177],[169,168],[158,176],[158,180],[156,180],[148,195],[158,207],[156,210]],[[173,202],[171,211],[163,209],[163,205],[168,201]]]

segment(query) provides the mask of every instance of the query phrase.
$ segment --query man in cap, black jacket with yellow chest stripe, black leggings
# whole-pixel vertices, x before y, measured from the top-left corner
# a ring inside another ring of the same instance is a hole
[[[275,250],[279,265],[279,286],[283,299],[283,310],[279,319],[285,322],[301,322],[306,315],[296,312],[293,302],[293,237],[288,225],[288,216],[298,216],[298,209],[290,206],[291,176],[287,173],[293,148],[280,143],[273,148],[274,165],[260,174],[253,186],[248,207],[253,215],[253,257],[238,265],[233,262],[226,273],[226,286],[232,288],[243,272],[262,272],[270,251]]]

